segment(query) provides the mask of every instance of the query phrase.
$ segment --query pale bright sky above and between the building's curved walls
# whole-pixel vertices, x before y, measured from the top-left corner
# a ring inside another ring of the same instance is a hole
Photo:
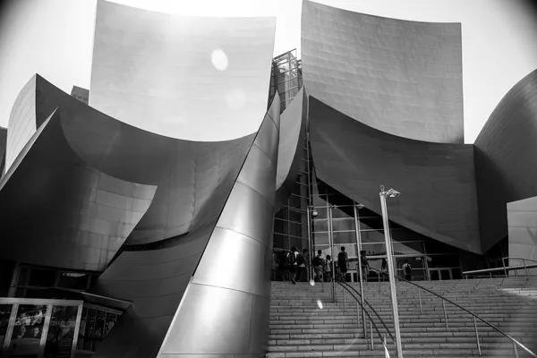
[[[297,48],[302,0],[115,0],[187,16],[276,16],[274,55]],[[318,0],[413,21],[461,22],[465,142],[473,143],[499,100],[537,68],[537,11],[524,0]],[[97,0],[0,3],[0,126],[36,72],[60,89],[90,88]],[[199,124],[203,125],[203,124]]]

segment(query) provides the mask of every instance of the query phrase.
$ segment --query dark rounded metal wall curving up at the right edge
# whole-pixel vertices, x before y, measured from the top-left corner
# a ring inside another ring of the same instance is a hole
[[[482,248],[507,236],[507,202],[537,196],[537,70],[501,99],[475,140]]]

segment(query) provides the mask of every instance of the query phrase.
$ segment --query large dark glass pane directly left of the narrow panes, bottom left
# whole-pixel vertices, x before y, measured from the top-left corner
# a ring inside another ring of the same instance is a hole
[[[45,358],[71,356],[78,306],[53,306],[48,326]]]

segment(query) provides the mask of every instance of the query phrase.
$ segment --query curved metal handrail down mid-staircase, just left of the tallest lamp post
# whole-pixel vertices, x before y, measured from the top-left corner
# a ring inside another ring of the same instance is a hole
[[[370,333],[369,337],[370,337],[370,342],[371,342],[371,351],[374,350],[374,348],[375,348],[375,344],[374,344],[374,341],[373,341],[373,328],[374,328],[375,331],[377,332],[377,336],[379,336],[380,342],[382,342],[382,345],[384,346],[385,358],[389,358],[388,345],[386,343],[386,336],[383,336],[380,333],[380,330],[377,327],[377,324],[371,318],[370,312],[368,312],[365,309],[365,307],[363,307],[362,301],[363,301],[363,303],[366,303],[370,307],[371,311],[377,316],[377,318],[379,319],[379,321],[382,324],[382,326],[384,327],[384,329],[386,329],[386,332],[388,333],[388,336],[390,337],[392,342],[395,343],[396,338],[389,331],[388,326],[386,325],[386,322],[384,322],[384,320],[382,320],[382,318],[379,315],[379,312],[377,310],[375,310],[373,308],[373,306],[371,306],[371,303],[369,303],[367,300],[365,300],[365,298],[362,299],[362,295],[360,293],[358,293],[358,291],[356,291],[353,286],[350,286],[345,281],[345,277],[342,277],[339,273],[337,273],[336,275],[331,275],[331,273],[329,271],[326,271],[323,268],[313,267],[308,262],[306,262],[305,264],[306,264],[306,266],[312,268],[313,272],[315,272],[316,270],[320,269],[321,272],[323,273],[323,276],[325,274],[328,274],[332,282],[337,283],[339,286],[341,286],[343,289],[345,289],[345,291],[348,292],[351,295],[351,297],[353,297],[354,301],[356,301],[356,307],[360,306],[360,309],[362,311],[362,315],[365,314],[367,316],[367,318],[369,319],[369,323],[370,323],[369,324],[369,326],[370,326],[369,327],[369,333]],[[335,297],[336,293],[333,293],[333,296]],[[345,293],[343,293],[343,298],[344,298],[344,310],[345,310],[345,306],[346,306]],[[358,325],[360,325],[360,310],[356,310],[356,316],[357,316]],[[367,322],[365,320],[363,320],[362,323],[363,323],[363,337],[365,338],[365,337],[368,336],[368,327],[367,327]]]

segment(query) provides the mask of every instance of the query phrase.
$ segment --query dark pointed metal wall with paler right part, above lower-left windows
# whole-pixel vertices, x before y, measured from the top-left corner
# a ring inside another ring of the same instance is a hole
[[[55,111],[0,182],[0,257],[102,270],[156,190],[87,166],[65,140],[60,112]]]

